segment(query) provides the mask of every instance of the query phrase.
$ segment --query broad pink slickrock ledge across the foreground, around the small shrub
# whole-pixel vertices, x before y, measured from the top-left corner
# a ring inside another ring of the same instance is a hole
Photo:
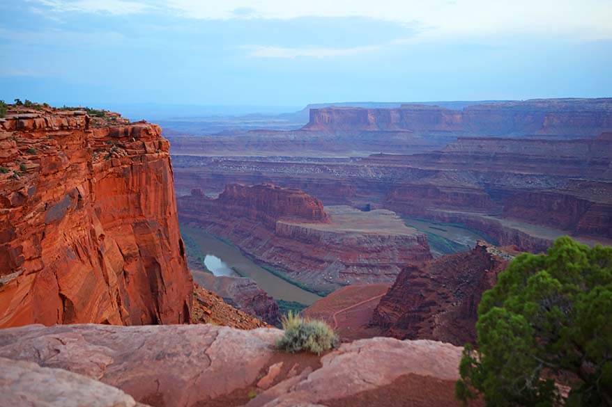
[[[320,358],[273,349],[280,330],[195,326],[25,326],[0,357],[68,369],[151,406],[458,406],[461,348],[392,338]],[[399,404],[404,403],[404,404]]]

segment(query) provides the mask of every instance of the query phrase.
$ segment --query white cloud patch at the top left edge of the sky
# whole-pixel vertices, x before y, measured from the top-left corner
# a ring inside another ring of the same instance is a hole
[[[27,0],[47,6],[56,12],[137,14],[155,8],[151,4],[128,0]]]

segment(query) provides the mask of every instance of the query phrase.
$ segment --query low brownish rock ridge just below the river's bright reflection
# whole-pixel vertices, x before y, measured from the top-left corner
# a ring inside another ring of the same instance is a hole
[[[278,304],[257,285],[257,282],[250,278],[196,273],[194,281],[215,292],[238,310],[254,315],[270,325],[280,324],[281,315]]]

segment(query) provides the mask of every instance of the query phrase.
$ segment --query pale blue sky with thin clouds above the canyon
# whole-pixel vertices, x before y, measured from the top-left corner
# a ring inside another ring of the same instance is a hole
[[[611,21],[612,0],[1,0],[0,99],[610,97]]]

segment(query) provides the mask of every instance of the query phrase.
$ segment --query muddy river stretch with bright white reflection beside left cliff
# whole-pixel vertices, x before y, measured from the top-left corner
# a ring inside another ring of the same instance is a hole
[[[215,276],[238,276],[239,273],[257,282],[263,291],[277,300],[310,305],[321,298],[263,269],[246,257],[239,248],[225,243],[203,229],[181,225],[181,234],[190,237],[199,246],[206,268]]]

